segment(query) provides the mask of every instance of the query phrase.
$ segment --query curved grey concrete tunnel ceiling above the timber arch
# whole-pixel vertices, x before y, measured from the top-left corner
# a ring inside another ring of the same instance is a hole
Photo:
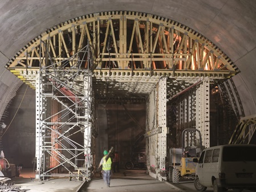
[[[255,110],[254,1],[13,1],[0,2],[2,14],[1,66],[47,28],[81,15],[101,11],[132,10],[172,19],[204,35],[234,62],[241,73],[232,79],[246,114]],[[2,85],[18,79],[3,70]],[[8,77],[7,77],[8,76]],[[7,78],[6,78],[7,77]],[[3,102],[3,101],[1,101]],[[1,103],[2,105],[2,103]]]

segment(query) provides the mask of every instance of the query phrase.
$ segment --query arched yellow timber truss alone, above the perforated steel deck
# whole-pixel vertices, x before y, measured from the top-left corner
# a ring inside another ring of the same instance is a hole
[[[40,50],[42,44],[46,46]],[[127,11],[95,13],[60,23],[31,40],[6,67],[38,68],[50,59],[59,63],[73,57],[67,67],[83,59],[82,67],[87,68],[81,53],[86,45],[92,47],[92,69],[171,70],[173,76],[197,76],[196,71],[217,79],[239,72],[220,48],[191,28],[156,15]],[[27,76],[13,73],[29,81]]]

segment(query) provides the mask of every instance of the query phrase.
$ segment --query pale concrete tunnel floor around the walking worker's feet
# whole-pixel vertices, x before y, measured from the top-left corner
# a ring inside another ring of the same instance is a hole
[[[71,181],[69,178],[51,178],[48,181],[39,182],[35,179],[32,179],[32,181],[31,178],[34,177],[35,173],[31,170],[23,169],[20,177],[12,178],[11,182],[15,186],[20,187],[19,189],[25,189],[29,192],[182,191],[168,182],[161,182],[150,177],[145,173],[145,170],[123,170],[120,173],[114,173],[111,178],[110,187],[105,185],[99,173],[94,175],[94,178],[89,182],[78,181],[75,178]]]

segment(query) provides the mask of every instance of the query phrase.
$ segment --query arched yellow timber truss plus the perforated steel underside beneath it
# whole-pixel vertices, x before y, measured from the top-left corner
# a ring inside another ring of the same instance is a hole
[[[90,54],[84,54],[87,46]],[[31,40],[6,67],[35,88],[39,64],[75,68],[78,62],[79,68],[94,71],[96,99],[145,99],[161,77],[168,77],[172,87],[169,99],[195,78],[223,81],[239,72],[220,48],[191,28],[131,11],[95,13],[60,23]]]

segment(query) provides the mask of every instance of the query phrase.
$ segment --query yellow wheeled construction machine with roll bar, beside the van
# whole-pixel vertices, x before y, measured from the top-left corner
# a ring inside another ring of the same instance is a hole
[[[202,152],[202,137],[197,129],[184,129],[182,148],[171,148],[169,151],[169,181],[180,182],[180,179],[194,179],[197,163],[194,158]]]

